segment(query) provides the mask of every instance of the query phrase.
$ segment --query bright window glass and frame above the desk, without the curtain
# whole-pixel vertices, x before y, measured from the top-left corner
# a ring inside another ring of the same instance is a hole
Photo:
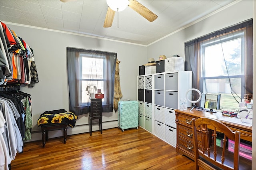
[[[238,109],[244,96],[245,29],[200,43],[202,93],[220,94],[220,108]]]

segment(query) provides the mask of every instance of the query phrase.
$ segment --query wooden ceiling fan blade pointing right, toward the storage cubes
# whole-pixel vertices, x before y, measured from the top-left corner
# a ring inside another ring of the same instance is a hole
[[[154,14],[152,11],[150,11],[148,8],[146,8],[136,0],[129,0],[128,6],[150,22],[156,20],[157,18],[156,14]]]

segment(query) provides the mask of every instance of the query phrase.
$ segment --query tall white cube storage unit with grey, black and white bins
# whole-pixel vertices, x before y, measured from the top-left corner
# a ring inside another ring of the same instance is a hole
[[[138,82],[139,77],[141,76],[138,76]],[[141,85],[143,82],[144,86]],[[142,90],[142,86],[144,93],[138,91],[143,93],[145,99],[143,102],[139,100],[140,127],[175,147],[177,134],[174,110],[180,109],[180,99],[185,99],[186,92],[192,88],[192,71],[168,71],[145,75],[144,81],[138,83],[138,90]],[[148,95],[151,90],[152,95]],[[145,98],[146,95],[152,96],[152,100],[149,97]],[[141,96],[138,95],[140,99]],[[187,103],[187,107],[190,106],[192,103]]]

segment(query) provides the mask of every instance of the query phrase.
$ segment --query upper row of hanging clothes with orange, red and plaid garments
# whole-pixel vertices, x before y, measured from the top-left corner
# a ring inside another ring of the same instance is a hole
[[[34,86],[39,82],[34,60],[28,43],[0,21],[0,85],[22,83]]]

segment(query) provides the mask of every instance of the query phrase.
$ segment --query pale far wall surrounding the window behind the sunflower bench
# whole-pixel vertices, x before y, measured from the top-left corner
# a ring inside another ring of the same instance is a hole
[[[66,70],[66,47],[96,49],[116,52],[121,61],[120,85],[124,99],[137,99],[138,66],[147,62],[145,45],[115,42],[98,38],[90,38],[78,34],[55,32],[22,25],[6,23],[34,50],[39,83],[33,88],[22,87],[21,90],[31,94],[33,127],[32,140],[41,140],[40,127],[37,120],[44,111],[65,109],[68,111],[68,81]],[[117,113],[103,113],[103,129],[117,127]],[[81,126],[79,126],[81,125]],[[98,130],[94,126],[93,130]],[[88,114],[78,116],[76,126],[68,129],[68,134],[88,132]],[[49,138],[62,136],[61,131],[49,133]]]

